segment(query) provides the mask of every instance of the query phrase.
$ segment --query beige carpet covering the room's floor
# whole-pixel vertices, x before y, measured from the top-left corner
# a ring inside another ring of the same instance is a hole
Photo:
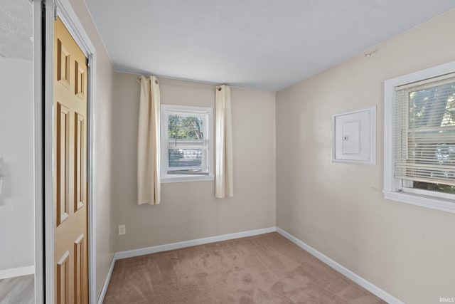
[[[385,303],[277,233],[117,261],[104,303]]]

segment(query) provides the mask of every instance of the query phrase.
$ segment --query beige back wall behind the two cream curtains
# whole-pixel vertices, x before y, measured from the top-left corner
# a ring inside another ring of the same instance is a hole
[[[137,75],[116,75],[116,224],[119,251],[275,226],[275,95],[232,88],[234,197],[215,199],[214,182],[161,184],[161,204],[137,205]],[[161,103],[213,108],[215,89],[160,79]]]

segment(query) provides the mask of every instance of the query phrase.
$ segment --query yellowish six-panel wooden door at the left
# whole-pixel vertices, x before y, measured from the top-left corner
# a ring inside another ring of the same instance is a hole
[[[87,59],[54,23],[55,302],[88,303]]]

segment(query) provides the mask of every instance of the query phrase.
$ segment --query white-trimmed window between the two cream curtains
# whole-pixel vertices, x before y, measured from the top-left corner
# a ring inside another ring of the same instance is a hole
[[[161,182],[213,180],[212,112],[161,105]]]

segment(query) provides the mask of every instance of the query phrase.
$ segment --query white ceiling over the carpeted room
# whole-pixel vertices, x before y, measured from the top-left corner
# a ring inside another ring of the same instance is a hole
[[[454,0],[85,1],[120,72],[269,91],[455,8]]]

